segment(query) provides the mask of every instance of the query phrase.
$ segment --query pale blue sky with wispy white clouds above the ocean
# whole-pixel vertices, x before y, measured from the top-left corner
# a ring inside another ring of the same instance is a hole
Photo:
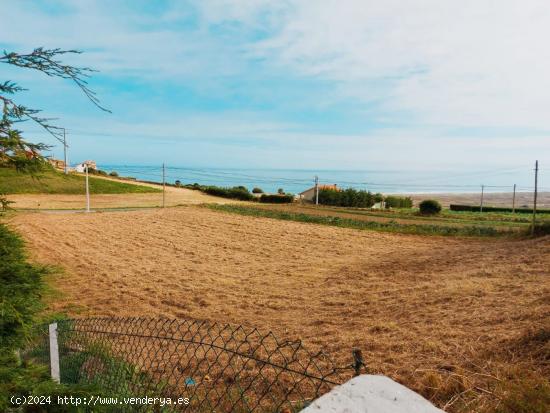
[[[89,86],[0,66],[72,163],[550,165],[546,0],[0,0],[0,49],[78,49]],[[56,144],[31,124],[29,137]],[[51,152],[62,156],[56,145]]]

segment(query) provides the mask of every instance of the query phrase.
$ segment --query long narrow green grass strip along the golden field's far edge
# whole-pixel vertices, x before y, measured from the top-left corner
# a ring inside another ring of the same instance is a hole
[[[351,218],[335,216],[308,215],[304,213],[285,212],[266,208],[255,208],[243,205],[215,205],[205,204],[206,208],[216,211],[230,212],[240,215],[275,218],[287,221],[307,222],[312,224],[330,225],[342,228],[360,230],[374,230],[382,232],[397,232],[404,234],[419,235],[443,235],[443,236],[473,236],[473,237],[495,237],[503,235],[517,235],[517,231],[496,229],[491,226],[444,226],[437,224],[401,224],[397,222],[375,222],[363,221]]]

